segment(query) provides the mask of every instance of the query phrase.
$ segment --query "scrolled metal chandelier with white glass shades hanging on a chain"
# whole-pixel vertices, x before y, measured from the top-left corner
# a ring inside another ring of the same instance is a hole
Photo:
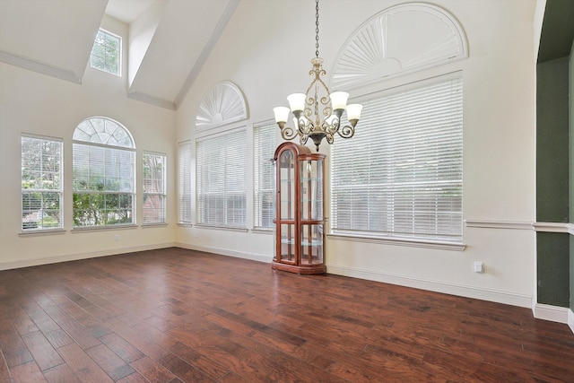
[[[343,138],[351,138],[355,134],[355,126],[361,118],[362,105],[347,105],[349,93],[345,91],[329,92],[321,76],[326,74],[323,69],[323,59],[319,57],[319,0],[315,6],[315,58],[311,60],[313,69],[309,75],[313,77],[305,93],[293,93],[287,97],[289,108],[274,108],[275,122],[281,129],[285,140],[292,140],[300,136],[300,144],[306,144],[309,137],[313,140],[317,152],[319,144],[326,138],[326,142],[333,144],[335,133]],[[341,126],[343,112],[347,111],[350,125]],[[292,112],[293,124],[296,128],[286,126],[289,112]],[[321,121],[321,115],[323,120]]]

